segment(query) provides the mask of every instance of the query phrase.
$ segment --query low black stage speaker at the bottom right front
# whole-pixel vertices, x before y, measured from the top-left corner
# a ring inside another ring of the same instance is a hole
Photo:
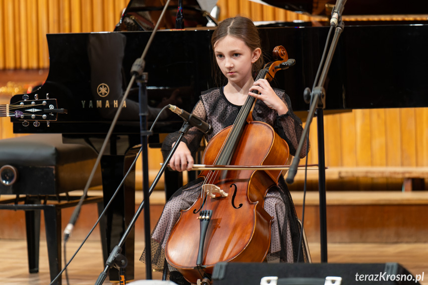
[[[315,279],[341,277],[342,285],[420,284],[424,274],[413,276],[398,263],[218,263],[212,274],[213,285],[260,285],[264,277],[278,281],[264,284],[316,284]],[[322,282],[321,284],[324,284]],[[333,284],[335,284],[333,282]],[[336,283],[337,284],[337,283]]]

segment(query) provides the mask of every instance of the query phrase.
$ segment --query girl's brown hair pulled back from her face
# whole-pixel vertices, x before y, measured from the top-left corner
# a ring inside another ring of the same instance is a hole
[[[226,36],[232,36],[237,39],[243,40],[245,45],[251,51],[254,51],[257,48],[261,50],[261,43],[260,43],[258,30],[254,26],[254,23],[246,17],[237,16],[233,18],[227,18],[219,23],[218,27],[214,30],[214,33],[211,37],[211,46],[213,51],[216,43],[222,40]],[[214,62],[216,62],[215,55],[214,55]],[[251,74],[253,74],[253,77],[255,76],[254,73],[260,70],[262,67],[263,67],[263,56],[260,56],[258,60],[254,62],[251,66]]]

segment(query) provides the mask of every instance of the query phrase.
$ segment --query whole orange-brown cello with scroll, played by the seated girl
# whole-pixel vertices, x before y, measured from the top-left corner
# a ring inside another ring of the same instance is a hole
[[[284,68],[284,47],[273,51],[276,61],[260,70],[271,81]],[[235,123],[217,133],[207,144],[202,162],[216,166],[285,165],[287,143],[260,121],[252,119],[256,99],[248,96]],[[257,151],[254,151],[254,150]],[[165,248],[169,264],[190,283],[209,284],[218,262],[262,262],[270,247],[273,217],[264,209],[264,197],[278,184],[282,170],[205,170],[200,199],[181,216]],[[198,230],[199,229],[199,230]],[[198,233],[199,231],[199,233]]]

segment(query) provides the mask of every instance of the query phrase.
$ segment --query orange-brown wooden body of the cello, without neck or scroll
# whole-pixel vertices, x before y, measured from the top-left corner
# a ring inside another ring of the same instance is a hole
[[[208,143],[204,164],[213,164],[221,151],[231,127],[216,134]],[[285,165],[289,156],[287,143],[263,122],[250,121],[234,153],[231,165]],[[203,171],[208,177],[214,171]],[[218,262],[262,262],[270,246],[272,217],[263,209],[267,191],[275,186],[281,175],[276,171],[220,171],[214,181],[228,196],[206,198],[212,210],[203,246],[204,272],[211,274]],[[196,283],[201,279],[195,267],[199,246],[201,201],[182,211],[171,232],[165,253],[168,263],[176,267],[184,278]]]

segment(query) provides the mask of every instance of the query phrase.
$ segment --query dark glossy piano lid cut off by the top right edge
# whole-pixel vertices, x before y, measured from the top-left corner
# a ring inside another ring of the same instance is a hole
[[[330,15],[336,0],[251,0],[295,12]],[[343,15],[414,15],[428,14],[421,0],[349,0]]]

